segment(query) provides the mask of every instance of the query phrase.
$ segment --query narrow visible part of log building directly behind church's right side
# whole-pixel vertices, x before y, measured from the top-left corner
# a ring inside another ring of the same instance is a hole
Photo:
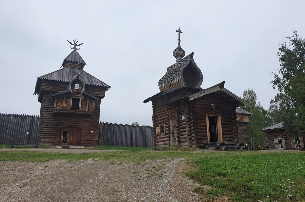
[[[254,114],[240,108],[236,108],[235,112],[238,126],[238,140],[248,146],[247,125],[250,123],[250,116]]]

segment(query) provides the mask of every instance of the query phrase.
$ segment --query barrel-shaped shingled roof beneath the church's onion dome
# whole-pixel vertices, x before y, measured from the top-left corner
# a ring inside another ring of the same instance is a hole
[[[201,70],[194,62],[193,55],[194,53],[191,53],[167,68],[167,72],[159,80],[158,83],[159,89],[161,92],[163,92],[163,95],[174,90],[181,89],[183,87],[190,87],[196,89],[200,88],[200,85],[203,81],[203,75],[201,73]],[[199,74],[199,78],[195,81],[196,86],[188,86],[185,82],[185,79],[183,78],[183,70],[188,64],[192,64],[192,66],[195,67],[198,71],[197,74]]]

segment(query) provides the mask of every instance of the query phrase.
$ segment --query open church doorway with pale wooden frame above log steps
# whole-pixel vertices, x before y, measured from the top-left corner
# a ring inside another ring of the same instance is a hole
[[[208,142],[222,142],[220,114],[206,114]]]

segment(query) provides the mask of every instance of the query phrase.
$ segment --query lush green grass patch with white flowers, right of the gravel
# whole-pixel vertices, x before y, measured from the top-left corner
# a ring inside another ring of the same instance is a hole
[[[205,155],[195,161],[198,169],[186,176],[212,186],[208,197],[231,194],[231,200],[239,202],[304,201],[304,152]]]

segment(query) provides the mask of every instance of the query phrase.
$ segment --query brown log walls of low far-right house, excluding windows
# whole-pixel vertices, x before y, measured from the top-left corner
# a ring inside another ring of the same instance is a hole
[[[295,149],[294,142],[293,143],[291,142],[292,139],[287,136],[284,129],[274,130],[274,131],[265,131],[265,132],[267,133],[270,149],[277,149],[274,145],[274,139],[277,139],[277,138],[284,139],[283,145],[285,144],[285,149]],[[300,137],[300,139],[303,138],[303,142],[304,142],[305,134],[301,134],[298,137]],[[304,150],[304,143],[302,145],[302,149]]]

